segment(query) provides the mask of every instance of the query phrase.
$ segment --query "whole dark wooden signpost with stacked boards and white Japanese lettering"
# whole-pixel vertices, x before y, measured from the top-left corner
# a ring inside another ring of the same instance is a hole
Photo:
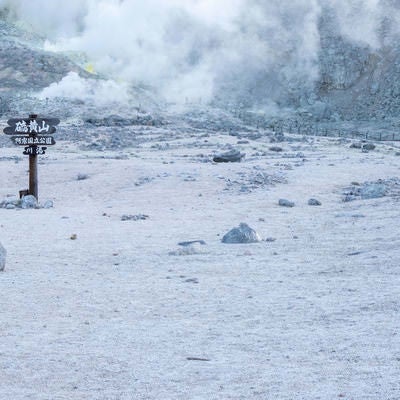
[[[49,136],[56,131],[58,118],[38,118],[31,114],[29,118],[12,118],[7,121],[3,132],[11,136],[11,140],[18,146],[25,146],[22,154],[29,155],[29,190],[28,194],[38,200],[38,172],[37,157],[45,154],[47,147],[56,144],[54,138]],[[39,147],[40,146],[40,147]],[[26,191],[21,191],[26,193]]]

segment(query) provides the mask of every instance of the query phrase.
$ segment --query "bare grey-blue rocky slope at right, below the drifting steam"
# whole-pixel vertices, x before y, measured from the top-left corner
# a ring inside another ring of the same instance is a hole
[[[334,15],[320,20],[320,78],[315,93],[318,118],[384,120],[400,115],[400,52],[382,21],[381,46],[373,49],[335,33]]]

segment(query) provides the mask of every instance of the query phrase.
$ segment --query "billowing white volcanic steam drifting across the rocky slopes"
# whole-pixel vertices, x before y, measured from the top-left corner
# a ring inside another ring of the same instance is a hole
[[[319,78],[323,12],[335,14],[338,34],[378,48],[398,33],[399,3],[0,0],[0,8],[45,35],[47,50],[76,54],[88,71],[115,85],[151,86],[178,103],[285,107],[311,96]],[[93,93],[70,75],[46,94],[82,97],[85,90]]]

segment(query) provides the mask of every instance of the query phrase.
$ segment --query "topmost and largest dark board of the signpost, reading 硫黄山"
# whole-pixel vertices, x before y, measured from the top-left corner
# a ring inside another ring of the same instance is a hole
[[[52,134],[59,123],[58,118],[12,118],[7,121],[10,126],[4,128],[3,132],[6,135]]]

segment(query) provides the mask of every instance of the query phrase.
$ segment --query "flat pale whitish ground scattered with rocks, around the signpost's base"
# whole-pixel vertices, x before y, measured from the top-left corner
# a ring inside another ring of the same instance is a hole
[[[59,141],[54,207],[0,209],[0,398],[399,399],[398,144],[163,129]],[[211,162],[229,145],[246,158]],[[1,149],[0,199],[27,186],[20,153]],[[221,243],[241,222],[264,240]]]

